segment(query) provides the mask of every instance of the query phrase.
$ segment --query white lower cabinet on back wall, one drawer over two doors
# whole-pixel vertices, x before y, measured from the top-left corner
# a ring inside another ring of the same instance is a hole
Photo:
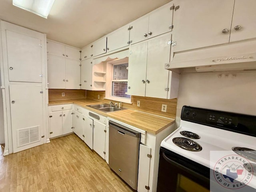
[[[49,106],[49,138],[73,132],[72,105]]]

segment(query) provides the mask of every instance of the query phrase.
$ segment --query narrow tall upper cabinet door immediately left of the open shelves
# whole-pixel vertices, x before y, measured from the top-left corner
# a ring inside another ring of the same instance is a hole
[[[81,62],[81,89],[92,90],[92,60]]]

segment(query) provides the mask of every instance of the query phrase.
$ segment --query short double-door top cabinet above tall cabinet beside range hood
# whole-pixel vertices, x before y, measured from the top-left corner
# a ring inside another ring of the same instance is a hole
[[[131,44],[172,31],[173,3],[168,4],[142,16],[130,23]]]

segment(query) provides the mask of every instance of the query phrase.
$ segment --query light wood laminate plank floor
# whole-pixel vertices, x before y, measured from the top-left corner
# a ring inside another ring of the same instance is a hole
[[[2,154],[0,192],[132,192],[75,134]]]

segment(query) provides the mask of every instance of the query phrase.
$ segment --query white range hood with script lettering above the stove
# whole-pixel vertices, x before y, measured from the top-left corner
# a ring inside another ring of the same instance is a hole
[[[256,70],[256,39],[174,52],[165,68],[178,73]]]

